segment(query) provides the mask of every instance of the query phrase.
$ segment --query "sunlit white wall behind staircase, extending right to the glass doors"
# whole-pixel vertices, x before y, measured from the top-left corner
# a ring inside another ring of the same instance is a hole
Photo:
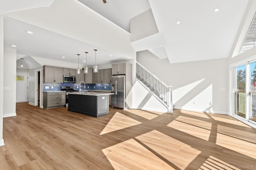
[[[170,64],[168,59],[140,51],[137,61],[165,84],[173,86],[175,108],[228,113],[227,58]]]

